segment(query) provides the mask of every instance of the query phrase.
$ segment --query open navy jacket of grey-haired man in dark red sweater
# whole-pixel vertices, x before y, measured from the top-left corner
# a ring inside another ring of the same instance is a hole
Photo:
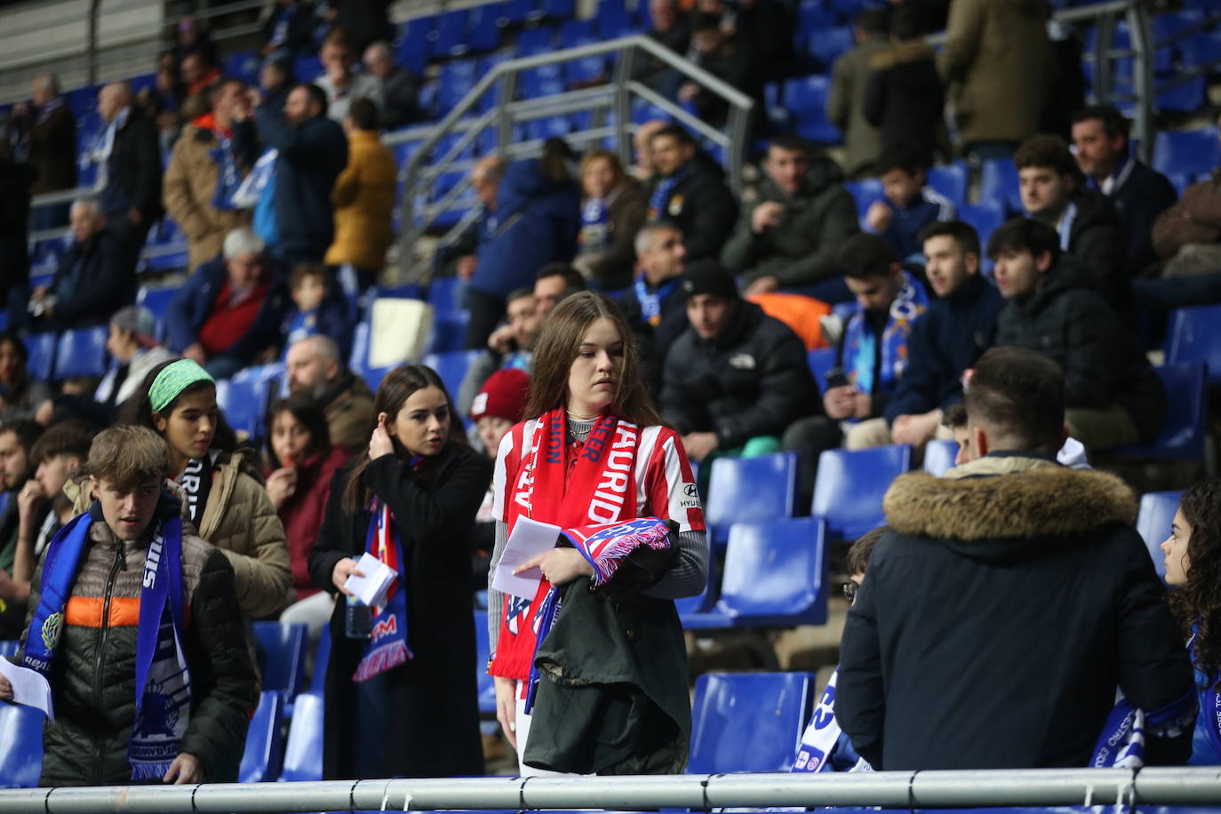
[[[245,332],[245,336],[225,351],[226,356],[249,364],[271,345],[280,344],[280,327],[292,306],[292,300],[288,298],[288,290],[284,286],[284,275],[274,268],[271,277],[271,289],[267,292],[267,299],[263,301],[263,308],[259,309],[259,315],[254,319],[254,323]],[[195,272],[182,284],[170,303],[165,317],[165,344],[170,350],[181,354],[184,348],[199,342],[199,328],[212,312],[212,304],[220,295],[227,278],[228,271],[225,267],[225,260],[217,258],[195,268]]]

